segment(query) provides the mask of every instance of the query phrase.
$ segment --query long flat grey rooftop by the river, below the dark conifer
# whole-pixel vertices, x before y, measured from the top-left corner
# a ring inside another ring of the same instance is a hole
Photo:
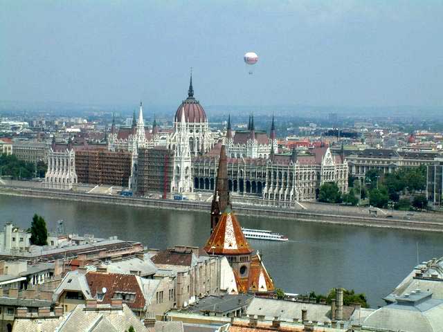
[[[31,246],[26,251],[2,250],[0,260],[26,259],[37,261],[57,261],[58,259],[78,259],[80,261],[97,261],[98,259],[123,258],[137,253],[143,255],[143,244],[133,241],[123,241],[117,237],[109,239],[93,239],[89,243],[67,246]]]

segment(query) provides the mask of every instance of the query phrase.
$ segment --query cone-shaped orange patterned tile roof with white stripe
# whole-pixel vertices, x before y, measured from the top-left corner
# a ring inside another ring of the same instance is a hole
[[[230,210],[221,214],[204,249],[211,255],[244,255],[252,252],[237,217]]]

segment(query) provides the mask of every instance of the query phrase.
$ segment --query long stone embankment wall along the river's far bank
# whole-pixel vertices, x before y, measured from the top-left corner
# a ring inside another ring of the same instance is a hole
[[[64,201],[80,201],[85,203],[103,203],[114,205],[129,205],[141,208],[160,208],[165,210],[190,210],[195,212],[209,212],[210,203],[201,201],[171,201],[160,199],[139,199],[132,197],[107,196],[78,192],[63,192],[56,190],[28,189],[0,187],[0,195],[25,196],[40,199],[57,199]],[[424,232],[443,232],[443,221],[439,219],[418,220],[386,218],[382,216],[361,216],[334,213],[334,205],[331,210],[322,210],[321,213],[309,210],[291,210],[285,208],[273,208],[269,206],[248,206],[234,203],[235,212],[244,216],[266,216],[273,219],[289,219],[310,223],[329,223],[335,225],[354,225],[361,227],[392,228],[398,230],[416,230]]]

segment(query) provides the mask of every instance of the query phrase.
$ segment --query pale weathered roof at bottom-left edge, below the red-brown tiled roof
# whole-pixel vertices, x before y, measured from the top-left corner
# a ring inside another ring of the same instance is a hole
[[[62,317],[21,318],[15,320],[13,332],[57,331],[57,332],[122,332],[133,326],[137,332],[147,329],[126,304],[123,308],[98,305],[87,310],[84,304],[75,307]]]

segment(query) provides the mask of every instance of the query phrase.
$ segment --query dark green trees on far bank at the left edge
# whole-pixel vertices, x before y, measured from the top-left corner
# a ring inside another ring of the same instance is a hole
[[[19,160],[13,154],[0,154],[0,176],[11,176],[15,180],[34,178],[35,176],[43,178],[46,169],[46,164],[43,161],[35,165],[35,163]]]

